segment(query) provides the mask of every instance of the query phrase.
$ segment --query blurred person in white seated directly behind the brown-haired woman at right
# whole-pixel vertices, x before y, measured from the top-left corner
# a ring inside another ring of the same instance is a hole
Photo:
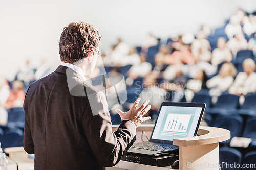
[[[226,39],[220,37],[217,41],[217,48],[212,51],[211,64],[218,66],[222,62],[231,62],[232,54],[228,47],[226,47]]]

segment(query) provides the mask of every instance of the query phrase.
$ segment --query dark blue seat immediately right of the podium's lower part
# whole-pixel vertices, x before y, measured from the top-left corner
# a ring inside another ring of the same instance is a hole
[[[242,161],[242,154],[240,151],[230,147],[220,147],[220,165],[222,170],[239,169],[239,168],[230,168],[230,164],[234,164],[234,163],[241,164],[241,161]],[[229,164],[229,168],[227,164]]]

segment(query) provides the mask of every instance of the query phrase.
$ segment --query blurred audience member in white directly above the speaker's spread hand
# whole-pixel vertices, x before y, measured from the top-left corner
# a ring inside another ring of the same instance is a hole
[[[134,64],[128,71],[128,77],[136,79],[138,77],[144,77],[148,72],[152,70],[152,65],[146,62],[145,54],[140,54],[140,62]]]

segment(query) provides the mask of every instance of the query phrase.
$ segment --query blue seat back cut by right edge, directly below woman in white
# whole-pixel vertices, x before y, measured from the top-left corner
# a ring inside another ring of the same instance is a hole
[[[246,95],[244,104],[237,112],[242,116],[256,115],[256,95]]]

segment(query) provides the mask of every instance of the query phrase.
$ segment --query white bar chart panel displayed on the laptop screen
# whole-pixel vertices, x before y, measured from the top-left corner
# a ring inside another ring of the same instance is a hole
[[[163,130],[186,132],[190,117],[190,114],[168,114]]]

